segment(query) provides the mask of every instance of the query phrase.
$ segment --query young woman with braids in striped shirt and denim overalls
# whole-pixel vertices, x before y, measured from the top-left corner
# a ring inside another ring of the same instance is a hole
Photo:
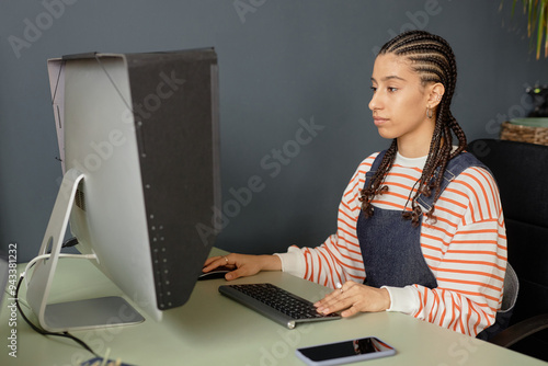
[[[456,77],[442,37],[412,31],[388,42],[375,60],[369,108],[392,142],[352,176],[336,233],[283,254],[212,258],[204,272],[229,265],[230,281],[282,270],[336,287],[316,304],[324,313],[400,311],[472,336],[493,324],[506,268],[504,219],[491,173],[464,151],[450,113]]]

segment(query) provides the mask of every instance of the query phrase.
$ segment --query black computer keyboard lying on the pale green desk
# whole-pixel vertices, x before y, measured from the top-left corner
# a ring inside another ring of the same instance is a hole
[[[311,301],[272,284],[222,285],[219,293],[288,329],[300,322],[341,318],[338,313],[321,314]]]

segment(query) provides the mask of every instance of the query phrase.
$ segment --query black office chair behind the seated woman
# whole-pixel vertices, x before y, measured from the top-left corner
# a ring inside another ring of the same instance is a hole
[[[548,146],[478,139],[468,145],[493,173],[520,282],[510,327],[489,342],[548,361]]]

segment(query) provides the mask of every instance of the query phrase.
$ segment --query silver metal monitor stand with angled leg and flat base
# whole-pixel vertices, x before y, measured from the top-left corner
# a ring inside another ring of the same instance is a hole
[[[49,332],[136,324],[145,320],[122,297],[47,304],[77,187],[83,176],[78,170],[70,169],[62,179],[38,253],[47,254],[50,249],[50,256],[35,264],[26,291],[28,305],[38,317],[41,327]]]

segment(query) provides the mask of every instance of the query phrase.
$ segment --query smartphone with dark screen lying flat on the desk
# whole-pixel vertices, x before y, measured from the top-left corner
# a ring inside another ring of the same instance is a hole
[[[319,344],[297,348],[295,352],[297,357],[312,366],[350,364],[396,354],[391,345],[375,336]]]

